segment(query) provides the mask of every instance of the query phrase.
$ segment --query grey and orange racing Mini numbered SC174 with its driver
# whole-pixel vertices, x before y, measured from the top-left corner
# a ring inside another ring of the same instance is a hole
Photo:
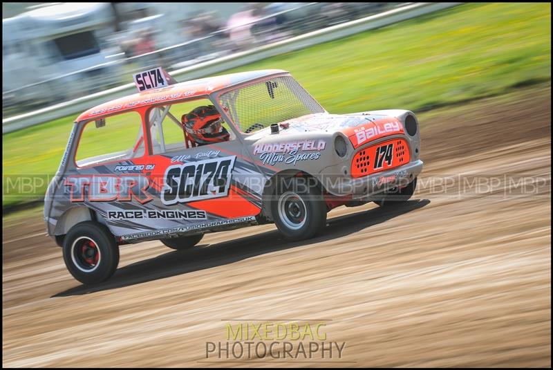
[[[138,93],[75,120],[44,200],[48,235],[84,284],[113,275],[122,244],[186,250],[263,223],[308,239],[334,207],[393,206],[415,191],[411,111],[331,114],[281,70],[134,77]]]

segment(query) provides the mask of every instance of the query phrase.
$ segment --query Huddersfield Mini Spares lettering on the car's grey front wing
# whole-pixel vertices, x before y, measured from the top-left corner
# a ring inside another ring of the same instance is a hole
[[[258,144],[254,147],[254,156],[259,156],[263,165],[286,163],[296,165],[299,160],[317,160],[321,150],[326,147],[324,140],[297,140],[276,144]],[[302,151],[302,153],[299,153]],[[307,153],[303,153],[307,152]]]

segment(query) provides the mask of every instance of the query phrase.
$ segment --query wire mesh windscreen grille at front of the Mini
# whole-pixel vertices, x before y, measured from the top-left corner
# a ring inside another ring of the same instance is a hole
[[[221,95],[232,120],[244,133],[310,113],[323,107],[293,77],[275,77]]]

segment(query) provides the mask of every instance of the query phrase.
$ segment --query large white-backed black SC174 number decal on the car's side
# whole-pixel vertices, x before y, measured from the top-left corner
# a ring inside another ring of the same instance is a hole
[[[161,201],[165,205],[227,196],[236,156],[172,165],[165,171]]]

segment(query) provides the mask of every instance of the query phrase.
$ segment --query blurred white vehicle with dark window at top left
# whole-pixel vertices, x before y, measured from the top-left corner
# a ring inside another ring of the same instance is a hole
[[[118,54],[105,42],[113,30],[109,3],[57,3],[3,19],[3,100],[54,102],[75,89],[105,86],[120,73],[102,65]]]

